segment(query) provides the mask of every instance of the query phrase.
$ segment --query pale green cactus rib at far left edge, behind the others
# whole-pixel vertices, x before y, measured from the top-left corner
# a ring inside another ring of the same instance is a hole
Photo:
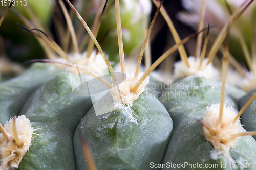
[[[0,83],[0,122],[18,115],[33,91],[61,70],[51,64],[33,64],[22,75]]]

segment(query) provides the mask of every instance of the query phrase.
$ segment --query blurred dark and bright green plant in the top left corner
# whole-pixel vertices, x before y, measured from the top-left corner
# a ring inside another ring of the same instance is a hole
[[[12,6],[12,9],[19,11],[26,18],[35,17],[38,21],[49,26],[53,12],[54,3],[51,0],[37,1],[27,0],[27,5]],[[6,6],[0,6],[0,13],[3,13]],[[36,16],[30,15],[32,10]],[[9,12],[3,25],[0,28],[0,35],[4,38],[4,47],[7,56],[13,61],[25,62],[29,59],[42,58],[44,55],[40,45],[37,43],[33,35],[28,35],[24,30],[18,28],[16,23],[21,24],[22,21],[13,13]]]

